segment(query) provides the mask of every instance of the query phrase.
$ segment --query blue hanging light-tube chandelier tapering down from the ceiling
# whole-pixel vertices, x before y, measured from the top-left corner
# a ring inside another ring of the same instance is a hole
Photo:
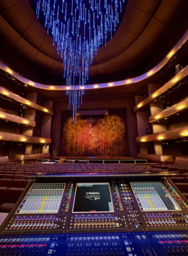
[[[56,42],[63,59],[68,108],[73,104],[73,122],[83,102],[88,68],[99,46],[112,38],[125,0],[38,0],[36,15],[44,14],[44,26]]]

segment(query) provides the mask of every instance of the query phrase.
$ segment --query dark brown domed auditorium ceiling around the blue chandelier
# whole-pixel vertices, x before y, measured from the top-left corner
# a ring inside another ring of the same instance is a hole
[[[62,84],[62,59],[30,3],[0,1],[0,59],[28,79]],[[129,0],[118,30],[89,66],[89,83],[130,78],[154,67],[187,30],[187,11],[187,0]]]

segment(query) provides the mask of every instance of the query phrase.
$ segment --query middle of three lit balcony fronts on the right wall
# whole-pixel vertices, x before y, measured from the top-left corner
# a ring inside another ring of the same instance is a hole
[[[163,111],[161,111],[160,113],[151,116],[149,118],[149,123],[156,122],[158,120],[164,119],[166,117],[170,117],[172,115],[177,115],[177,113],[180,113],[187,109],[188,109],[188,98],[186,100],[183,100],[182,102],[179,102],[179,103],[171,106],[171,108],[166,108]]]

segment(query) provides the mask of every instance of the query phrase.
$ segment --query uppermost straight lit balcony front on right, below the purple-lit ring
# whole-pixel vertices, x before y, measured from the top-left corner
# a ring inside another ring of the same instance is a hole
[[[183,71],[175,75],[175,77],[173,77],[169,82],[167,82],[167,84],[164,84],[164,86],[160,87],[152,95],[148,96],[147,98],[142,100],[138,105],[134,106],[134,111],[140,110],[143,108],[143,106],[146,106],[151,102],[154,102],[154,100],[158,98],[158,96],[169,90],[171,87],[175,86],[175,84],[177,84],[179,81],[181,81],[181,79],[183,79],[187,75],[188,65],[183,69]]]

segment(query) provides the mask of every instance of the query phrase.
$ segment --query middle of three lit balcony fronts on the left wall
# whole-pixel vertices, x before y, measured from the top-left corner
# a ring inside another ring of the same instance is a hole
[[[14,123],[20,123],[23,125],[33,126],[33,127],[36,126],[35,121],[25,119],[23,117],[18,117],[16,115],[11,115],[11,114],[8,114],[8,113],[2,112],[2,111],[0,111],[0,119],[11,121]]]

